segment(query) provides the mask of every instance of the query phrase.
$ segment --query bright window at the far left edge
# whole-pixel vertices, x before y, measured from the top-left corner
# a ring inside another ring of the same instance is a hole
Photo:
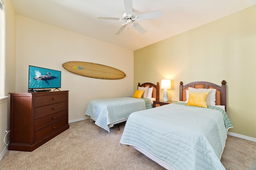
[[[0,98],[6,96],[5,81],[5,19],[4,5],[0,0]]]

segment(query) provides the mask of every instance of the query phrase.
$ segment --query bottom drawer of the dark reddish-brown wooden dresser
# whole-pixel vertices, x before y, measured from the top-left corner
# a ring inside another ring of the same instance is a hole
[[[61,129],[67,125],[66,119],[60,120],[54,124],[51,124],[49,126],[46,126],[43,129],[40,129],[35,132],[35,142],[39,141],[40,139],[50,135],[51,133],[54,133],[55,131],[58,131],[58,129]]]

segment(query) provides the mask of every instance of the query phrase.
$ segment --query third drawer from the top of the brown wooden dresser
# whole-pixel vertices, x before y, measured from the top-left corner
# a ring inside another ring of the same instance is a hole
[[[56,121],[59,121],[60,119],[66,118],[66,116],[67,116],[67,110],[62,110],[62,111],[59,111],[58,113],[54,113],[54,114],[36,119],[35,131],[37,131],[38,129],[41,129],[42,127],[50,125]]]

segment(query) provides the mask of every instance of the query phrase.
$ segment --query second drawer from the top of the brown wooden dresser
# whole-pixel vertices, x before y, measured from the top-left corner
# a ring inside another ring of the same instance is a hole
[[[67,102],[51,104],[35,108],[35,119],[67,109]]]

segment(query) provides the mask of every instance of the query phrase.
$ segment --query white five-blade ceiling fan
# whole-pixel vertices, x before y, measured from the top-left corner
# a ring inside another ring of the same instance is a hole
[[[125,13],[123,14],[122,18],[103,17],[103,16],[98,16],[97,18],[100,20],[125,21],[126,23],[121,25],[121,27],[116,31],[115,35],[120,34],[126,26],[129,26],[129,24],[132,24],[132,26],[135,29],[137,29],[137,31],[139,31],[141,34],[145,34],[147,31],[135,21],[158,18],[158,17],[161,17],[163,14],[162,11],[156,11],[156,12],[150,12],[150,13],[141,14],[141,15],[136,16],[132,12],[132,0],[124,0],[124,8],[125,8]]]

